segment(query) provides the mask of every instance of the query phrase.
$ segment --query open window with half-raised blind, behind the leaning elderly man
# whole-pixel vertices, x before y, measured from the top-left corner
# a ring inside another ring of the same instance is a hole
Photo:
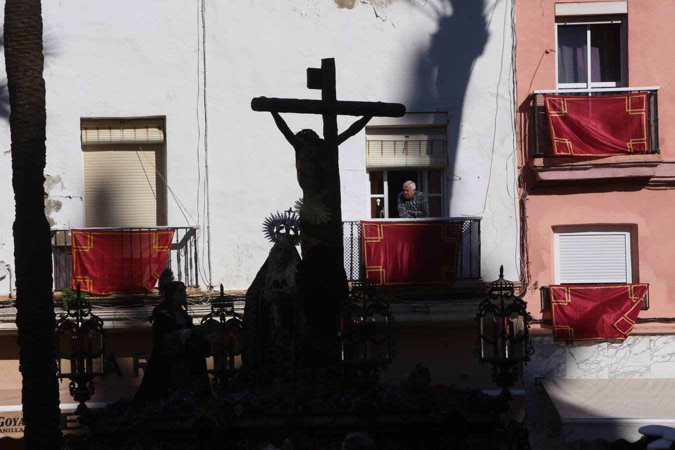
[[[397,218],[398,194],[408,180],[427,194],[429,217],[443,217],[443,173],[447,165],[445,125],[367,127],[371,217]]]

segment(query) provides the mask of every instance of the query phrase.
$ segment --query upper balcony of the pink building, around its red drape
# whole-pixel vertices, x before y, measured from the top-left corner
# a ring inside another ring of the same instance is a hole
[[[592,90],[535,90],[529,117],[529,142],[526,166],[539,181],[564,181],[603,178],[653,177],[666,175],[659,148],[658,86],[637,88],[594,88]],[[553,154],[549,117],[544,94],[605,96],[647,92],[647,143],[645,152],[613,156],[558,156]]]

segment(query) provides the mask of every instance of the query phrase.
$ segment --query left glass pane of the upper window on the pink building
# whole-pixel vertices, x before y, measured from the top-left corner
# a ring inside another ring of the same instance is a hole
[[[558,83],[587,82],[586,25],[558,25]]]

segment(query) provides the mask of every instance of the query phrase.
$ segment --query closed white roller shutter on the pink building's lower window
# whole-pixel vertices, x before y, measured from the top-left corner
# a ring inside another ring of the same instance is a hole
[[[560,233],[558,283],[630,283],[629,233]]]

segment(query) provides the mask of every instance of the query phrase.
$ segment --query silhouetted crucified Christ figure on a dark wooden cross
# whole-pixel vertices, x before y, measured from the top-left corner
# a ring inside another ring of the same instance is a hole
[[[306,329],[300,332],[303,350],[298,357],[304,370],[298,380],[325,391],[326,386],[338,386],[333,376],[338,339],[335,327],[340,302],[349,295],[338,146],[360,132],[371,117],[403,117],[406,107],[400,103],[338,101],[333,58],[321,59],[321,69],[308,67],[307,88],[321,90],[321,100],[256,97],[251,100],[251,109],[272,113],[277,128],[295,150],[303,196],[299,208],[302,261],[298,263],[296,283],[306,322]],[[279,113],[320,114],[323,139],[312,130],[294,134]],[[339,115],[362,118],[338,134]]]

